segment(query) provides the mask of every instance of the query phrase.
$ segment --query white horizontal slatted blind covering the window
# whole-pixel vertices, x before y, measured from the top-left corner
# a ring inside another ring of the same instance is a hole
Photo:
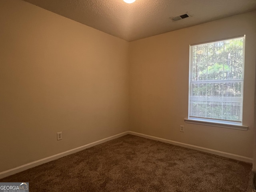
[[[190,46],[188,118],[242,124],[245,36]]]

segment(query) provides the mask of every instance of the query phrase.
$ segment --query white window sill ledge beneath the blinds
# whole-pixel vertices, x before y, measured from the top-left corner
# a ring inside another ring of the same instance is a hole
[[[223,124],[223,123],[208,122],[208,121],[195,120],[195,119],[184,119],[184,121],[185,123],[192,123],[192,124],[198,124],[198,125],[222,127],[222,128],[237,129],[237,130],[243,130],[243,131],[248,130],[248,126],[244,126],[244,125]]]

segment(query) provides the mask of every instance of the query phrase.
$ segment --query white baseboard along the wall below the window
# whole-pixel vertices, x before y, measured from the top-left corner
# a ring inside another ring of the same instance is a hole
[[[157,141],[161,141],[161,142],[165,142],[165,143],[170,143],[173,145],[178,145],[178,146],[182,146],[182,147],[186,147],[186,148],[190,148],[190,149],[194,149],[194,150],[198,150],[198,151],[202,151],[202,152],[206,152],[206,153],[210,153],[210,154],[214,154],[214,155],[218,155],[218,156],[222,156],[222,157],[227,157],[230,159],[239,160],[239,161],[243,161],[246,163],[252,163],[252,158],[245,157],[245,156],[240,156],[240,155],[227,153],[227,152],[223,152],[223,151],[208,149],[208,148],[204,148],[204,147],[200,147],[200,146],[190,145],[190,144],[186,144],[186,143],[181,143],[181,142],[177,142],[177,141],[172,141],[172,140],[154,137],[154,136],[150,136],[150,135],[145,135],[145,134],[132,132],[132,131],[128,131],[128,134],[139,136],[139,137],[144,137],[144,138],[148,138],[148,139],[152,139],[152,140],[157,140]]]

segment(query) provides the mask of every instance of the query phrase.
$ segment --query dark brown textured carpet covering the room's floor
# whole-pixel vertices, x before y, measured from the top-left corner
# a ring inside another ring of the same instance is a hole
[[[250,192],[251,164],[126,135],[3,178],[30,192]]]

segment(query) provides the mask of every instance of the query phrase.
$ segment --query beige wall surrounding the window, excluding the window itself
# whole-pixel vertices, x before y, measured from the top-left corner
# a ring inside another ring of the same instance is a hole
[[[246,34],[243,124],[248,131],[184,123],[189,45]],[[130,130],[252,158],[256,12],[130,43]],[[184,132],[180,132],[184,125]]]

